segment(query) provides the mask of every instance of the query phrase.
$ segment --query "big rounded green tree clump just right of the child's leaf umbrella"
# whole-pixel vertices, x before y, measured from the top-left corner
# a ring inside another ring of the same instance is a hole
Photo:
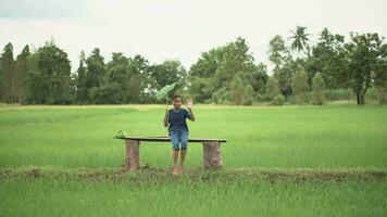
[[[254,63],[246,40],[240,37],[202,53],[189,74],[189,92],[198,102],[229,100],[234,104],[251,104],[254,95],[264,91],[267,80],[265,65]],[[245,99],[244,93],[248,94]]]

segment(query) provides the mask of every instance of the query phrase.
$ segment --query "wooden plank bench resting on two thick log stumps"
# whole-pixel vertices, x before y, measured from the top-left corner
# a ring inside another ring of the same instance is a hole
[[[140,142],[171,142],[168,137],[121,137],[116,139],[125,140],[126,170],[139,169],[140,166]],[[226,142],[225,139],[188,139],[188,143],[201,142],[203,145],[203,168],[204,169],[222,169],[221,143]]]

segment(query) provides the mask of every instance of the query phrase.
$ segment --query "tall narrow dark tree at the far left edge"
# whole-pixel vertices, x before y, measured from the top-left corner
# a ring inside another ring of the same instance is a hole
[[[0,56],[0,92],[2,102],[14,102],[14,67],[13,46],[9,42]]]

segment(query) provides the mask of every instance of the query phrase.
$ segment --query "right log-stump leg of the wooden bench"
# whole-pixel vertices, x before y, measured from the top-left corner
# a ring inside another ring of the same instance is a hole
[[[220,142],[203,142],[203,168],[222,169],[222,154]]]

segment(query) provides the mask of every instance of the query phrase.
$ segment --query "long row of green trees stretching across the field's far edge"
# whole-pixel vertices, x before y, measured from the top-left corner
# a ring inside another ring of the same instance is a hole
[[[349,90],[364,104],[377,90],[386,103],[387,43],[378,34],[345,37],[324,28],[312,43],[307,28],[297,26],[288,37],[276,35],[269,44],[267,66],[254,60],[246,39],[202,52],[186,69],[178,60],[161,64],[145,56],[113,52],[107,62],[100,49],[80,52],[71,72],[67,53],[53,41],[14,59],[8,43],[0,55],[0,101],[21,104],[158,103],[155,93],[177,82],[174,93],[200,103],[250,105],[270,102],[324,104],[329,90]]]

